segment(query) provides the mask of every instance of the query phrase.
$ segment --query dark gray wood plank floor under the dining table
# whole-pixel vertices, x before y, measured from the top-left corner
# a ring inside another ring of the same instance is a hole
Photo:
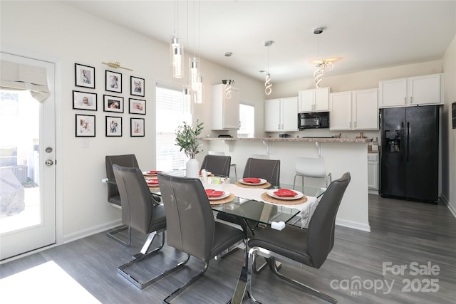
[[[336,226],[333,251],[320,269],[284,265],[282,272],[328,293],[338,303],[455,303],[456,219],[445,204],[382,199],[370,194],[369,220],[371,232]],[[129,261],[143,240],[144,236],[135,234],[133,246],[125,247],[105,233],[95,234],[5,263],[0,266],[0,276],[53,260],[102,303],[162,303],[197,273],[202,263],[190,258],[182,270],[139,290],[116,273],[116,268]],[[178,256],[165,246],[163,253],[142,263],[154,271]],[[383,273],[383,263],[389,263],[393,270],[406,268],[403,273]],[[433,274],[425,273],[429,263]],[[211,261],[206,274],[173,303],[227,303],[241,268],[242,250]],[[262,303],[326,303],[288,285],[269,269],[254,276],[253,283],[254,295]],[[251,301],[246,298],[244,303]]]

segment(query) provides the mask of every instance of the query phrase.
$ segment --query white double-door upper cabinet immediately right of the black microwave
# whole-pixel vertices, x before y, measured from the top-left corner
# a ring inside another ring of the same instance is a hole
[[[331,93],[330,130],[378,130],[378,90]]]

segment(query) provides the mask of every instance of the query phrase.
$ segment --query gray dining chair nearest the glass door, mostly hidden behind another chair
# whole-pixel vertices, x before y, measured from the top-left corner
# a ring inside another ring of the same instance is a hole
[[[106,177],[108,179],[115,179],[113,172],[113,164],[118,164],[122,167],[138,168],[138,160],[136,160],[135,154],[123,154],[123,155],[106,155],[105,166],[106,166]],[[117,185],[108,183],[108,202],[113,206],[120,207],[120,194]],[[120,231],[128,229],[127,240],[120,239],[117,235]],[[131,243],[131,229],[130,226],[122,225],[119,228],[113,229],[107,233],[107,235],[119,243],[130,246]]]

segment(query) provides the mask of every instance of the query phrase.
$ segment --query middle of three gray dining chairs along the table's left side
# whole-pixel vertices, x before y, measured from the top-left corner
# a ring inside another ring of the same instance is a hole
[[[167,273],[175,271],[180,266],[184,266],[190,256],[187,255],[185,261],[180,261],[172,268],[166,269],[160,275],[150,278],[147,281],[141,281],[133,274],[127,272],[130,266],[157,253],[165,244],[165,207],[162,204],[156,204],[156,201],[150,195],[149,187],[147,187],[147,182],[142,176],[140,169],[121,167],[113,164],[113,172],[122,204],[123,224],[131,227],[131,229],[147,234],[147,239],[140,253],[135,254],[132,261],[119,266],[118,273],[127,278],[136,287],[142,289],[167,275]],[[152,241],[159,232],[161,232],[160,245],[149,251]]]

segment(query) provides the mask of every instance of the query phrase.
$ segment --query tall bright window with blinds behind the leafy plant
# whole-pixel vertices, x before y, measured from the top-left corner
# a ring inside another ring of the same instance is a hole
[[[156,164],[159,170],[184,169],[187,158],[175,145],[175,132],[182,122],[192,124],[192,114],[184,103],[182,90],[157,83],[156,92]]]

